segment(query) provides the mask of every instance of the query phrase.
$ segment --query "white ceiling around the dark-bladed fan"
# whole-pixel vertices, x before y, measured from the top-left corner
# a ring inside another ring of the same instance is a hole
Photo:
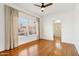
[[[38,5],[40,4],[41,3],[38,3]],[[45,12],[41,12],[41,9],[37,6],[34,6],[34,3],[15,3],[15,5],[23,9],[29,10],[33,13],[36,13],[37,15],[44,16],[72,10],[74,3],[53,3],[53,5],[45,9]]]

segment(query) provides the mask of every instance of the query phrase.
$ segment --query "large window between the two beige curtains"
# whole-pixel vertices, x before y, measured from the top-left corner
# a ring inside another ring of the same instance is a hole
[[[19,13],[18,19],[18,35],[37,35],[38,22],[32,16],[28,16],[23,13]]]

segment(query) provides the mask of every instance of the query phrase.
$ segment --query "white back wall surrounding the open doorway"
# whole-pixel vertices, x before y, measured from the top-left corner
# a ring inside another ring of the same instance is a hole
[[[44,17],[43,38],[51,40],[53,37],[53,20],[61,20],[62,23],[62,41],[73,43],[72,30],[72,11],[62,12],[59,14]]]

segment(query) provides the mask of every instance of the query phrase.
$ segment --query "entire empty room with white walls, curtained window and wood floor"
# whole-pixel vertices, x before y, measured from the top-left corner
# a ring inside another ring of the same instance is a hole
[[[0,3],[0,56],[79,56],[79,3]]]

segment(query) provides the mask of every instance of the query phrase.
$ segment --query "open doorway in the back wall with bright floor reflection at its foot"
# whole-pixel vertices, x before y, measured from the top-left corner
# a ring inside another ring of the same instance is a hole
[[[61,47],[61,21],[53,21],[53,39],[57,48]]]

